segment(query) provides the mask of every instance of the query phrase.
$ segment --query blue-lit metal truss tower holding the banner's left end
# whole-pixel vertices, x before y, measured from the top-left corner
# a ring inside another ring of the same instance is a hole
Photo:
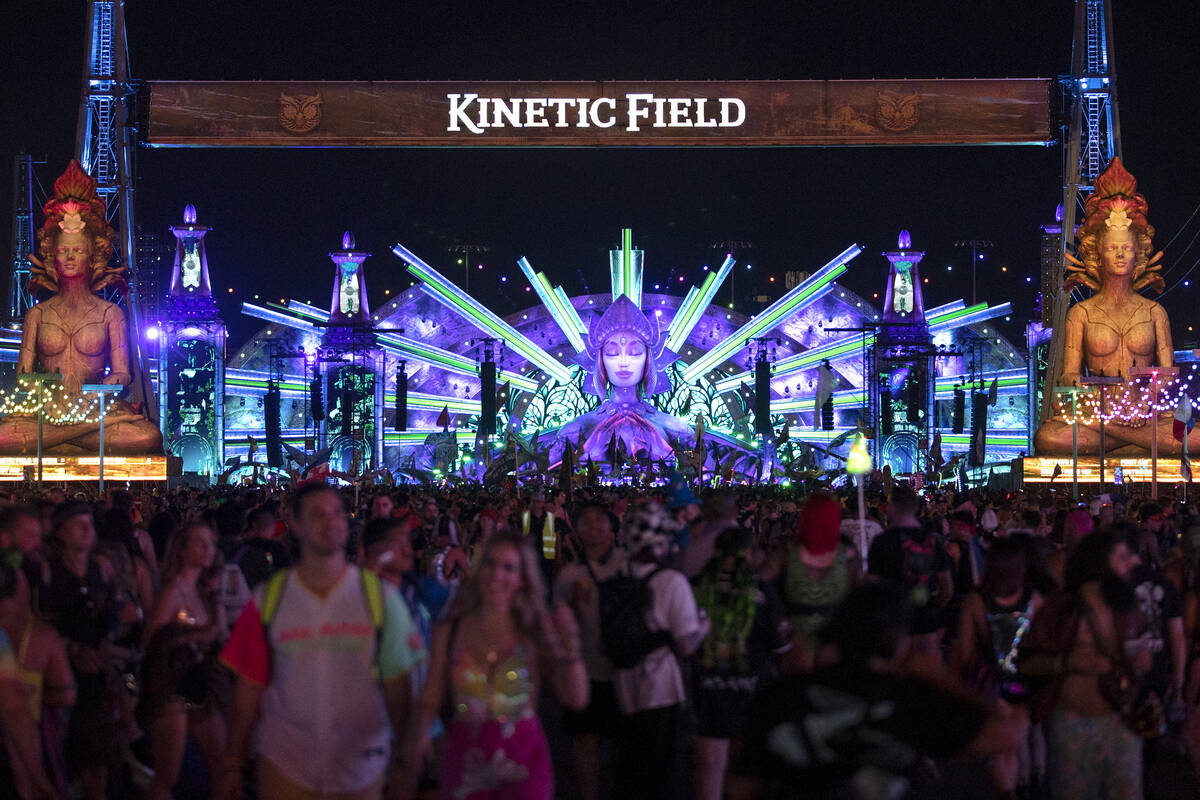
[[[96,179],[96,191],[104,198],[108,221],[120,239],[121,263],[130,270],[130,295],[125,301],[130,342],[136,354],[134,385],[130,399],[145,403],[150,416],[155,396],[146,379],[139,345],[143,320],[137,302],[137,225],[133,217],[133,126],[130,103],[136,86],[130,79],[130,48],[125,36],[125,0],[88,0],[86,60],[79,121],[76,127],[76,158]]]

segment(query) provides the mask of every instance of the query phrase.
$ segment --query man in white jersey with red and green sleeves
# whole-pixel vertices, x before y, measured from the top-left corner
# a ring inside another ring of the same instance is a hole
[[[220,796],[241,796],[257,724],[259,796],[376,800],[425,645],[395,589],[347,564],[332,488],[301,488],[292,513],[299,564],[258,587],[221,654],[238,686]]]

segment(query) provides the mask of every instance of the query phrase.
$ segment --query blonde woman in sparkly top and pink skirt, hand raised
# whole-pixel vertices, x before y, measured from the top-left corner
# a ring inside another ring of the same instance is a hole
[[[570,607],[546,608],[536,555],[523,537],[497,531],[463,582],[449,620],[433,631],[430,673],[406,748],[415,768],[449,697],[439,794],[455,800],[548,800],[554,780],[538,720],[550,681],[571,709],[588,702],[588,676]]]

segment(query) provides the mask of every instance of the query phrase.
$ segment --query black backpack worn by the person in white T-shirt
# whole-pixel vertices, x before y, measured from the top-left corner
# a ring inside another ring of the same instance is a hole
[[[646,613],[654,602],[650,578],[661,571],[662,567],[658,567],[644,578],[614,575],[599,581],[588,565],[600,595],[600,640],[617,669],[636,667],[646,656],[672,642],[670,631],[652,631],[646,622]]]

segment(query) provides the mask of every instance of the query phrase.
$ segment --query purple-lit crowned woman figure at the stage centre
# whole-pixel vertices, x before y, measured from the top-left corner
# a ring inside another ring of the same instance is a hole
[[[595,365],[590,389],[600,407],[571,420],[558,432],[551,458],[565,443],[583,441],[580,458],[607,463],[614,447],[630,457],[674,459],[674,445],[691,445],[695,434],[677,416],[654,408],[646,398],[671,389],[658,365],[674,360],[666,351],[666,331],[620,295],[588,330],[587,354]]]

